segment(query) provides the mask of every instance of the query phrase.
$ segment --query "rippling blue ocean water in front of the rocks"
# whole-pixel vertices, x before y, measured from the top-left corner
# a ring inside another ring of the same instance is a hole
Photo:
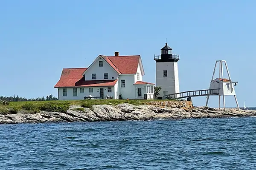
[[[0,170],[256,169],[256,117],[0,129]]]

